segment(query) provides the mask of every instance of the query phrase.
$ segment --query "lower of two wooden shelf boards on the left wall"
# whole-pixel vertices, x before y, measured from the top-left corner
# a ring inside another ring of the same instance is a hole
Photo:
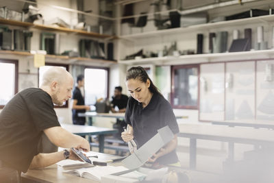
[[[1,55],[8,54],[14,56],[33,56],[32,53],[27,51],[10,51],[10,50],[0,50]],[[82,57],[69,57],[69,56],[55,56],[46,55],[46,62],[60,63],[60,64],[84,64],[90,66],[110,66],[111,64],[116,64],[116,61],[112,60],[101,60],[93,58],[82,58]]]

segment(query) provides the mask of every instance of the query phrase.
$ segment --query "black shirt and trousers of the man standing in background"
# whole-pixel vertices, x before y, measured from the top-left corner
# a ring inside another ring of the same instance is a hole
[[[76,105],[82,106],[85,105],[84,97],[81,93],[81,90],[78,87],[75,87],[73,90],[73,99],[77,100]],[[84,125],[86,122],[85,117],[78,117],[78,113],[80,112],[86,112],[85,109],[75,110],[73,109],[73,124],[75,125]]]

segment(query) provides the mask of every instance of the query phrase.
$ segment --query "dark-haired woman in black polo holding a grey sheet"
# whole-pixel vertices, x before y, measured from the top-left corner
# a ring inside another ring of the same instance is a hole
[[[154,164],[180,166],[175,152],[179,127],[169,101],[164,99],[141,66],[132,67],[127,71],[126,86],[132,97],[129,98],[125,111],[125,123],[129,129],[121,134],[123,141],[134,139],[139,148],[155,136],[157,130],[169,125],[175,134],[173,140],[148,161]]]

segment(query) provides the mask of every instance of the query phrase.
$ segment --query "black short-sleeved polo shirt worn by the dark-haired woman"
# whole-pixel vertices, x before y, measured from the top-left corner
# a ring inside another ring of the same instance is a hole
[[[171,104],[158,93],[152,95],[151,101],[145,108],[142,108],[142,103],[129,97],[127,110],[125,111],[125,122],[132,125],[134,140],[138,143],[138,148],[147,143],[150,138],[158,133],[157,130],[166,125],[169,125],[173,134],[179,132]],[[160,164],[178,162],[175,149],[171,153],[158,158],[157,162]]]

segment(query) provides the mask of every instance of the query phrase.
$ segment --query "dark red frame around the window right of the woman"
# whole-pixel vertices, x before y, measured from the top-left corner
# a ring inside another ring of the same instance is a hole
[[[177,69],[192,69],[197,68],[197,105],[196,106],[175,106],[174,96],[175,96],[175,70]],[[171,66],[171,106],[175,109],[187,109],[187,110],[198,110],[199,109],[199,92],[200,92],[200,64],[186,64],[186,65],[173,65]]]

